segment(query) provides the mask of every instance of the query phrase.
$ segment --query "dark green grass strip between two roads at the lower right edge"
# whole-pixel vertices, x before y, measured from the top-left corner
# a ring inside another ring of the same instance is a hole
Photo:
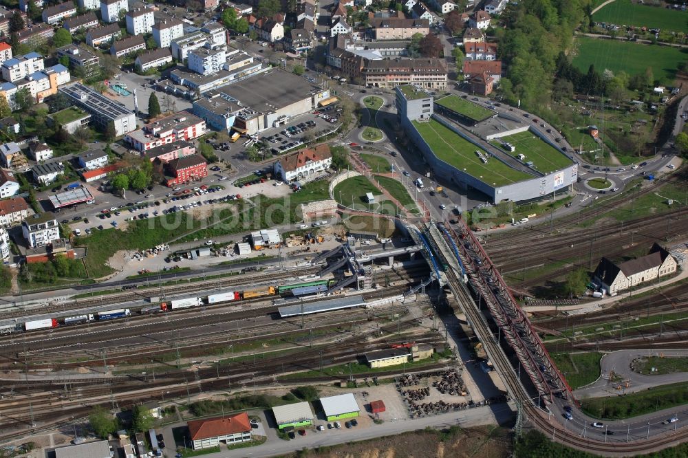
[[[624,419],[688,403],[688,382],[655,386],[623,396],[591,397],[581,409],[591,417]]]

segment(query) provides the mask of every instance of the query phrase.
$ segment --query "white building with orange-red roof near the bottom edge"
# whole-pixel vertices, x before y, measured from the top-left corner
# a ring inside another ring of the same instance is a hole
[[[216,417],[189,422],[189,435],[193,450],[239,444],[251,440],[251,425],[248,414],[241,412],[230,417]]]

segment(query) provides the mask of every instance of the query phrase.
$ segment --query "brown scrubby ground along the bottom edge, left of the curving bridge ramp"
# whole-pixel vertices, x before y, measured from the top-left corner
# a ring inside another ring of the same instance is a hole
[[[435,452],[431,452],[435,450]],[[422,430],[340,446],[300,451],[301,458],[506,458],[512,453],[507,430],[488,427]],[[286,457],[297,457],[296,454]]]

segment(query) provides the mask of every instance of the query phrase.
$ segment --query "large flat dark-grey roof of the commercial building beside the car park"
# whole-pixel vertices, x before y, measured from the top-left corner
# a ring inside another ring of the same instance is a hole
[[[255,111],[276,111],[322,91],[301,76],[273,68],[219,89]]]

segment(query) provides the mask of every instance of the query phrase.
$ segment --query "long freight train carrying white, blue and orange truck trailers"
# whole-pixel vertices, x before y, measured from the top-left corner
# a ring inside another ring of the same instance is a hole
[[[186,309],[190,307],[200,307],[201,305],[214,305],[219,303],[228,303],[234,301],[241,301],[242,299],[255,299],[270,296],[299,296],[305,294],[313,294],[315,292],[326,292],[329,287],[334,284],[334,280],[316,279],[312,281],[305,281],[302,283],[294,283],[292,285],[282,286],[262,286],[252,290],[244,291],[227,291],[217,294],[209,294],[208,296],[190,297],[183,299],[174,299],[172,301],[165,301],[154,305],[147,305],[140,309],[140,314],[149,315],[159,312],[173,312],[179,309]],[[117,318],[126,318],[131,316],[130,309],[114,309],[105,312],[98,312],[96,314],[83,314],[76,316],[67,316],[62,320],[63,325],[83,325],[92,321],[114,320]],[[26,323],[0,325],[0,334],[13,334],[15,332],[37,331],[39,329],[54,329],[60,323],[56,318],[46,318],[43,320],[27,321]]]

